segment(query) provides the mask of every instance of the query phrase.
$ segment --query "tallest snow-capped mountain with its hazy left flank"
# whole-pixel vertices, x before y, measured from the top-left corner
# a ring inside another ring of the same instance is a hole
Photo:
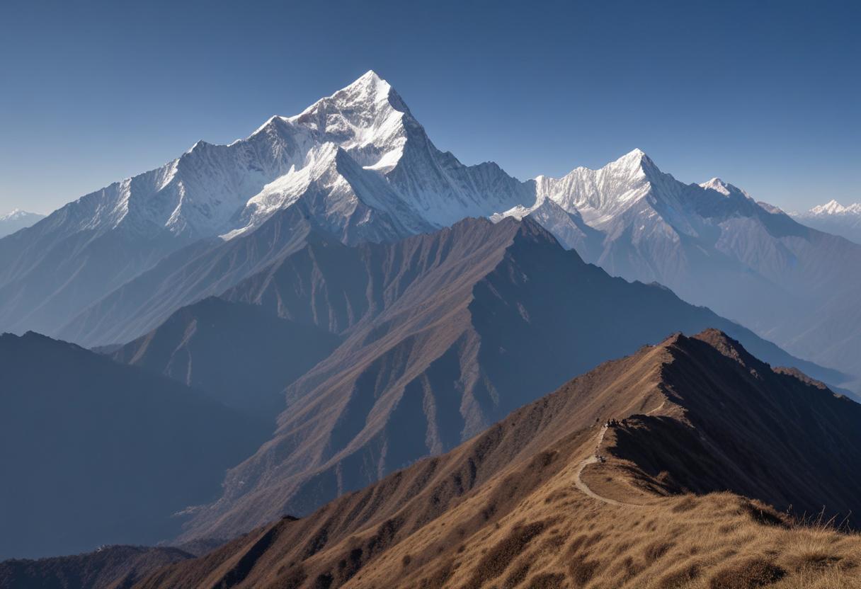
[[[529,183],[496,164],[467,166],[439,151],[391,85],[369,71],[299,115],[273,116],[229,145],[198,141],[157,170],[85,195],[26,235],[0,241],[0,329],[58,333],[90,306],[97,314],[98,301],[158,263],[158,276],[174,276],[206,247],[201,241],[255,233],[289,208],[352,244],[534,200]],[[269,258],[258,254],[231,276]],[[211,294],[201,288],[190,285],[187,294]]]

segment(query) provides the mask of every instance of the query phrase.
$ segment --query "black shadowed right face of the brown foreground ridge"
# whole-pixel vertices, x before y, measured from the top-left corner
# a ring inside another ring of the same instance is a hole
[[[670,492],[727,488],[798,515],[824,506],[828,517],[858,524],[861,406],[795,371],[772,370],[716,330],[664,345],[672,361],[662,366],[662,390],[678,419],[644,416],[614,428],[607,439],[616,456],[647,479],[664,473]]]

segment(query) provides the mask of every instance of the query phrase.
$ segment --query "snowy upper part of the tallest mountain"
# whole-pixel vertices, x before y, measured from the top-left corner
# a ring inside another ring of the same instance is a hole
[[[344,176],[347,168],[355,177]],[[389,185],[383,194],[356,187],[380,189],[380,179]],[[311,186],[331,190],[324,207],[331,224],[346,224],[365,202],[393,214],[404,234],[530,198],[499,166],[465,166],[437,150],[391,85],[369,71],[299,115],[271,117],[244,140],[198,141],[158,170],[86,195],[62,209],[56,223],[67,226],[65,233],[164,228],[189,238],[230,239],[294,204]]]

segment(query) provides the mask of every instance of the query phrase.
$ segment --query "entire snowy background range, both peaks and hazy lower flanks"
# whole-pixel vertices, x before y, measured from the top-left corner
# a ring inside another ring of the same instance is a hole
[[[526,182],[461,164],[373,71],[0,240],[0,328],[124,344],[263,272],[309,227],[355,245],[523,215],[610,274],[660,282],[858,387],[861,246],[719,179],[680,183],[639,150]]]

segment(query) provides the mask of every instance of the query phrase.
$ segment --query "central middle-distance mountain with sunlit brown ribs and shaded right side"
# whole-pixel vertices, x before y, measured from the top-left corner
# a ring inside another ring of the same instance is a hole
[[[288,387],[275,436],[185,537],[313,511],[667,329],[718,325],[772,362],[816,368],[666,288],[608,276],[529,219],[465,220],[393,245],[320,237],[225,296],[344,343]]]

